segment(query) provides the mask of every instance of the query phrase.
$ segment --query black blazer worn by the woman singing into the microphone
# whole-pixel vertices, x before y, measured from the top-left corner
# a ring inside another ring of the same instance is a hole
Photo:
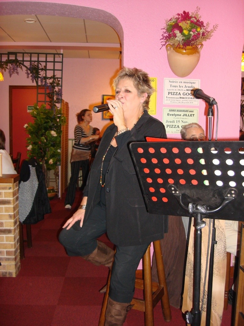
[[[88,192],[84,223],[100,201],[102,157],[116,131],[114,124],[105,130],[91,166],[87,188],[84,191]],[[111,242],[120,246],[159,240],[168,232],[167,215],[148,214],[146,211],[128,147],[130,142],[145,141],[145,137],[167,138],[165,127],[145,111],[127,133],[128,138],[124,144],[119,142],[119,137],[123,137],[123,134],[116,136],[118,147],[111,157],[105,182],[107,234]]]

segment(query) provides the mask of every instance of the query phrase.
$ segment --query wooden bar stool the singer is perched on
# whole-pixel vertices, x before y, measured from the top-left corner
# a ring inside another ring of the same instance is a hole
[[[134,304],[132,309],[136,309],[144,312],[145,326],[154,325],[153,309],[156,306],[156,304],[159,302],[159,300],[161,300],[164,320],[165,321],[171,320],[169,296],[168,296],[168,289],[166,285],[164,263],[163,263],[160,241],[157,240],[153,242],[159,283],[152,282],[150,246],[151,244],[148,246],[147,251],[142,259],[143,270],[136,271],[135,288],[143,289],[144,299],[133,298],[131,301],[131,304]],[[108,301],[110,277],[111,277],[111,271],[108,279],[107,290],[103,298],[98,326],[104,326],[105,323],[105,312],[106,312],[107,301]]]

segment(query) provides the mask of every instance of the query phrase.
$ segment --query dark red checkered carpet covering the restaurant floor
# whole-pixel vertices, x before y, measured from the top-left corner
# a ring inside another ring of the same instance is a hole
[[[0,278],[1,326],[96,326],[107,280],[108,268],[94,266],[80,257],[68,257],[58,242],[61,226],[74,210],[64,209],[62,199],[50,201],[52,213],[31,226],[32,248],[25,244],[25,259],[17,277]],[[25,227],[23,228],[25,230]],[[102,241],[113,247],[104,235]],[[231,309],[224,311],[222,326],[231,325]],[[186,325],[179,309],[171,307],[172,320],[165,322],[160,303],[154,309],[154,325]],[[143,326],[142,312],[131,310],[125,326]]]

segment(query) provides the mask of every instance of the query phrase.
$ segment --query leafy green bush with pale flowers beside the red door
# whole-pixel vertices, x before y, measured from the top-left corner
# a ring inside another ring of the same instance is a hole
[[[41,165],[45,174],[47,186],[47,171],[55,170],[61,161],[61,126],[65,125],[66,118],[61,109],[47,109],[45,104],[38,108],[34,104],[30,112],[34,122],[24,125],[29,137],[27,141],[27,157],[34,157]]]

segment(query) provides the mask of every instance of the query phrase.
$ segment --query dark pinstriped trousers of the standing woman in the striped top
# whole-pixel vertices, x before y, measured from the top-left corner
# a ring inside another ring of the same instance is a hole
[[[71,162],[71,177],[68,185],[67,194],[65,197],[64,205],[73,205],[75,201],[75,189],[79,177],[80,168],[82,168],[82,187],[87,183],[89,174],[89,160]]]

